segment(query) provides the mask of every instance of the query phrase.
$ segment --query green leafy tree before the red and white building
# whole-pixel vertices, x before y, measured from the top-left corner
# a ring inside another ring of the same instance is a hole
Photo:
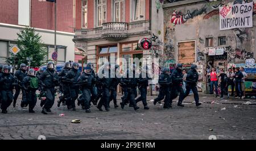
[[[19,66],[22,63],[28,65],[27,57],[30,57],[32,58],[31,67],[39,67],[45,64],[44,58],[47,56],[47,49],[43,47],[42,36],[31,27],[24,28],[17,35],[18,39],[16,41],[20,51],[16,55],[10,53],[10,57],[7,58],[6,62],[13,62],[14,65],[13,60],[16,58],[18,61],[16,65]]]

